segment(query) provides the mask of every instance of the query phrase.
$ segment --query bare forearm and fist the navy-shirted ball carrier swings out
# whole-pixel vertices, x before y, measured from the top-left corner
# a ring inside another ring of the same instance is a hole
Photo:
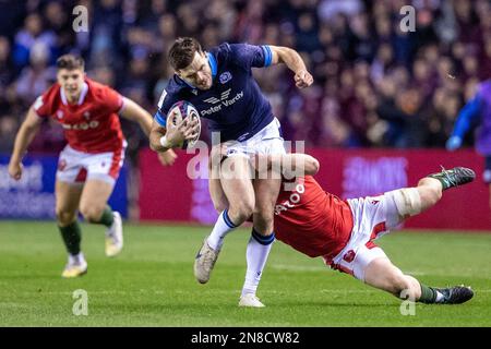
[[[312,85],[313,77],[296,50],[284,46],[270,46],[270,48],[273,53],[272,64],[285,63],[295,73],[297,87],[303,88]]]

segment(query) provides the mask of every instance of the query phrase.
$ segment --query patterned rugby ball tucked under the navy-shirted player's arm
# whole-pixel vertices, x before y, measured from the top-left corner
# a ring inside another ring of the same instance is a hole
[[[182,120],[184,120],[183,123]],[[195,121],[197,123],[196,127],[190,128],[192,121]],[[187,139],[183,140],[182,143],[178,144],[178,146],[183,149],[192,148],[196,144],[197,140],[200,140],[201,134],[200,113],[197,109],[189,101],[179,100],[172,105],[169,111],[167,124],[168,128],[172,127],[176,128],[181,125],[181,131],[183,132],[183,135]],[[190,135],[192,135],[191,139],[189,139]]]

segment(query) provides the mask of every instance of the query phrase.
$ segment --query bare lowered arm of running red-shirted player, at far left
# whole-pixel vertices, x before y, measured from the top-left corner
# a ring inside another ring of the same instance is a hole
[[[14,148],[9,161],[9,174],[15,180],[20,180],[22,177],[22,158],[38,132],[41,122],[43,119],[37,116],[34,107],[31,107],[15,136]]]

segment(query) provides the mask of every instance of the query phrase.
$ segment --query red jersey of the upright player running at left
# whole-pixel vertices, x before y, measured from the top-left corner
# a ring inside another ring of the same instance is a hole
[[[63,88],[56,83],[34,103],[41,118],[53,118],[75,151],[83,153],[120,152],[124,136],[117,112],[123,99],[112,88],[85,79],[79,103],[69,105]]]

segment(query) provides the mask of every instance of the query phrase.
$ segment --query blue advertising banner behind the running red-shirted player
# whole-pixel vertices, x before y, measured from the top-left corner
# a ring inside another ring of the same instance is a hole
[[[9,156],[0,155],[0,219],[55,219],[58,156],[26,156],[22,178],[9,176]],[[128,217],[127,168],[120,171],[109,205]]]

